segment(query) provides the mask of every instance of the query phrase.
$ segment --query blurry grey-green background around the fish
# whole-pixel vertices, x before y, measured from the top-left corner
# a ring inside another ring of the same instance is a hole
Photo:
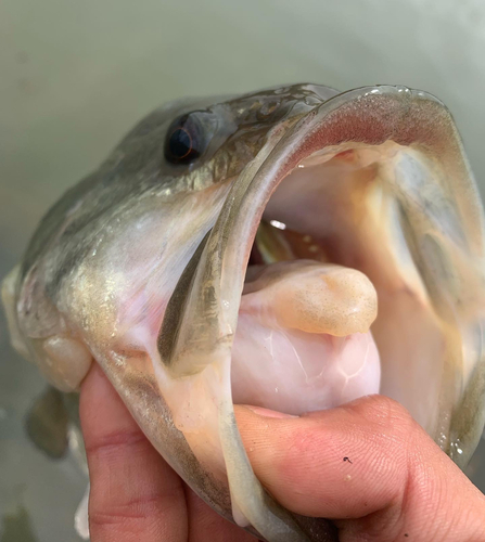
[[[484,51],[482,0],[0,0],[0,276],[61,192],[142,115],[188,94],[296,81],[427,90],[454,113],[484,194]],[[0,346],[0,518],[24,506],[35,540],[75,541],[82,474],[25,438],[43,384],[11,350],[3,315]],[[481,455],[484,441],[469,469],[484,490]]]

